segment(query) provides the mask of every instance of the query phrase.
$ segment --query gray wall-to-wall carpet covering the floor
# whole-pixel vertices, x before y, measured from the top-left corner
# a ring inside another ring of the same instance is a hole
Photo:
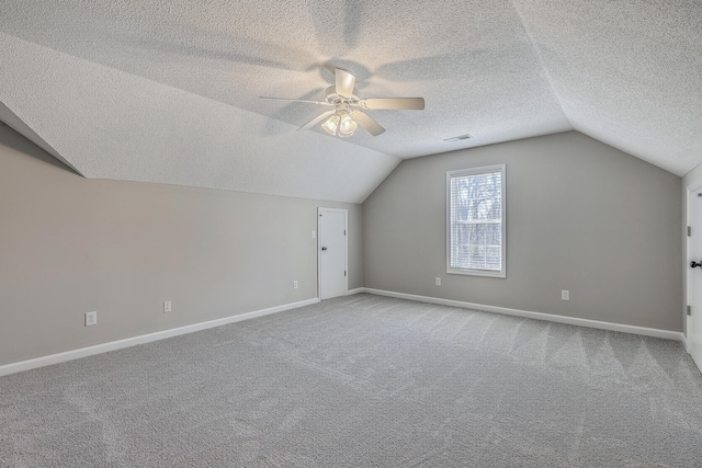
[[[3,467],[702,466],[678,342],[371,295],[0,378]]]

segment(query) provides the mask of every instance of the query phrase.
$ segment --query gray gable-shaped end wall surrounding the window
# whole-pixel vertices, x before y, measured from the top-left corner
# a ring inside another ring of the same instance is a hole
[[[445,173],[497,163],[507,278],[449,275]],[[363,204],[364,285],[680,331],[680,190],[679,176],[576,132],[407,160]]]

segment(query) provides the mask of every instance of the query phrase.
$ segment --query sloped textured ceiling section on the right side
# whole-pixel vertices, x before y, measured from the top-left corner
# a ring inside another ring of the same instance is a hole
[[[518,1],[574,128],[678,175],[702,162],[701,1]]]

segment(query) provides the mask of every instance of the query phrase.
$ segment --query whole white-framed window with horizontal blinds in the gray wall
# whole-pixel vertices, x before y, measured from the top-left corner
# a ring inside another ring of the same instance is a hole
[[[505,164],[446,172],[446,272],[505,277]]]

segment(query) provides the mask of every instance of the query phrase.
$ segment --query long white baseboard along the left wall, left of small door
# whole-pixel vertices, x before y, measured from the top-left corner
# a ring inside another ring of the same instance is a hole
[[[178,336],[181,334],[192,333],[195,331],[206,330],[215,327],[226,326],[228,323],[240,322],[242,320],[253,319],[261,316],[268,316],[270,313],[282,312],[284,310],[296,309],[303,306],[309,306],[312,304],[319,303],[319,298],[301,300],[298,303],[284,304],[282,306],[270,307],[268,309],[253,310],[251,312],[244,312],[236,316],[225,317],[222,319],[208,320],[206,322],[193,323],[191,326],[179,327],[170,330],[157,331],[154,333],[140,334],[138,336],[126,338],[124,340],[111,341],[107,343],[95,344],[94,346],[81,347],[78,350],[66,351],[57,354],[49,354],[48,356],[35,357],[33,359],[20,361],[19,363],[11,363],[0,366],[0,376],[21,373],[23,370],[30,370],[37,367],[49,366],[52,364],[64,363],[66,361],[78,359],[80,357],[92,356],[94,354],[106,353],[109,351],[121,350],[123,347],[135,346],[137,344],[150,343],[152,341],[165,340],[171,336]]]

